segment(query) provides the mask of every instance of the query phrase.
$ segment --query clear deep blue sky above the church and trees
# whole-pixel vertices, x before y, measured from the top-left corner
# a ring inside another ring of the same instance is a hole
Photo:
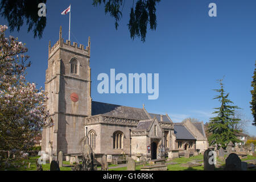
[[[217,17],[209,17],[209,3],[216,3]],[[256,1],[162,0],[156,6],[158,26],[147,30],[146,42],[132,40],[127,27],[132,1],[126,1],[123,16],[115,30],[114,19],[105,15],[104,6],[92,1],[49,1],[47,26],[43,38],[33,38],[27,26],[19,32],[7,31],[26,43],[32,65],[27,80],[44,87],[47,69],[48,42],[54,44],[63,27],[68,39],[69,15],[61,15],[71,3],[71,41],[86,45],[91,38],[92,98],[94,101],[145,108],[150,113],[168,113],[174,122],[198,118],[207,122],[219,88],[217,79],[224,78],[229,98],[242,108],[246,119],[250,111],[256,60]],[[7,21],[0,18],[1,24]],[[97,76],[117,73],[159,73],[159,98],[148,100],[148,94],[99,94]],[[247,131],[256,135],[249,123]]]

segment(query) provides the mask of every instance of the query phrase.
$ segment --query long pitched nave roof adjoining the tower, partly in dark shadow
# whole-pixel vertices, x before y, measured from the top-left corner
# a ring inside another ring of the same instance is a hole
[[[92,115],[97,114],[130,119],[150,119],[143,109],[92,101]]]

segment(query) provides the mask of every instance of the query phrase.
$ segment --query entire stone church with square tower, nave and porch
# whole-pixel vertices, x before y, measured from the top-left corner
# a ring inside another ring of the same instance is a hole
[[[208,148],[203,122],[174,123],[168,114],[92,101],[90,38],[84,47],[62,38],[51,46],[45,89],[48,92],[48,122],[42,132],[42,151],[57,156],[81,154],[87,139],[94,155],[131,155],[158,159],[177,152],[203,152]]]

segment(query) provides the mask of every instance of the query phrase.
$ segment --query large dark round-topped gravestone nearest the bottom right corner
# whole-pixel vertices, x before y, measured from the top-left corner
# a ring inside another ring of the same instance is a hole
[[[225,171],[241,171],[241,159],[237,154],[231,153],[228,158],[226,158]]]

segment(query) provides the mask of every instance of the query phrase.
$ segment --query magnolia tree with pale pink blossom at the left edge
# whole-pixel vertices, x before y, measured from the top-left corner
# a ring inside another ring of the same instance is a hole
[[[26,151],[47,123],[46,92],[26,82],[27,48],[0,25],[0,150]]]

